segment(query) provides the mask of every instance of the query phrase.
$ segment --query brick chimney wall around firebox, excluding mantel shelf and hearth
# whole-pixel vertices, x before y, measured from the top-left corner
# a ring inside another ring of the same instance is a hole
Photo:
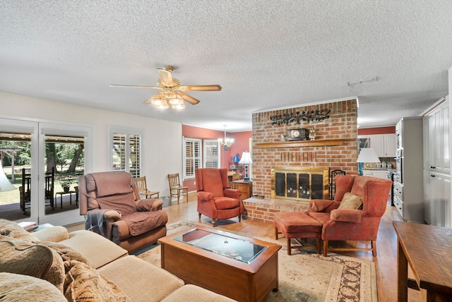
[[[323,121],[299,121],[272,125],[274,116],[296,114],[297,111],[328,111]],[[253,114],[252,176],[253,193],[271,194],[271,167],[329,167],[347,174],[357,174],[357,101],[316,104],[307,107],[279,109]],[[317,147],[266,147],[260,143],[279,143],[281,135],[295,128],[315,128],[316,140],[343,140],[343,145]]]

